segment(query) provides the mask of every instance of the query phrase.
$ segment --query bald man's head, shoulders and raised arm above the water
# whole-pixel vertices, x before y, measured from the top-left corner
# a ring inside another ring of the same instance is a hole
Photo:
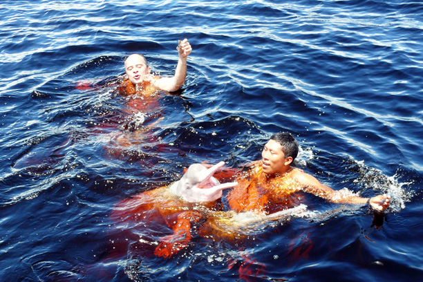
[[[126,94],[133,94],[141,90],[144,95],[149,95],[157,89],[163,91],[178,91],[187,76],[187,57],[191,53],[191,45],[187,39],[178,45],[178,65],[173,77],[156,77],[151,74],[147,59],[143,55],[132,54],[125,60],[125,73],[127,79],[123,82]],[[121,91],[122,92],[122,91]]]

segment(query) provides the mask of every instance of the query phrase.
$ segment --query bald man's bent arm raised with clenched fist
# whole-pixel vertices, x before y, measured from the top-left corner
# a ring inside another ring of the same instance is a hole
[[[178,91],[180,86],[185,82],[187,77],[187,57],[191,53],[192,48],[187,39],[180,41],[178,45],[178,65],[176,66],[175,75],[173,77],[160,77],[153,82],[153,85],[164,91]]]

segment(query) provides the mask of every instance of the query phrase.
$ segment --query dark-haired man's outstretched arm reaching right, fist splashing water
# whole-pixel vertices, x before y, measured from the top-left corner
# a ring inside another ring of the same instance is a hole
[[[297,180],[301,187],[303,187],[302,191],[324,198],[331,203],[356,205],[368,204],[377,211],[383,211],[389,207],[389,202],[391,200],[391,196],[389,195],[378,195],[373,198],[361,198],[360,196],[344,194],[341,191],[335,191],[334,189],[321,184],[317,178],[308,173],[296,173],[295,180]]]

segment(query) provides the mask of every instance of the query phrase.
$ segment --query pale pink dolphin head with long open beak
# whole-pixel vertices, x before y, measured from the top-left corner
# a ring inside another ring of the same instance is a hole
[[[188,202],[210,202],[222,197],[223,189],[237,185],[237,182],[220,184],[213,174],[223,167],[225,162],[219,162],[207,169],[203,164],[191,164],[187,172],[171,186],[173,194]]]

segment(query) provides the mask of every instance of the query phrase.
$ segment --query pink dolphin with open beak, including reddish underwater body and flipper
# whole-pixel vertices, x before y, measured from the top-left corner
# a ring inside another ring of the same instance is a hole
[[[204,220],[212,211],[221,209],[216,200],[222,190],[234,187],[236,182],[220,184],[213,177],[222,167],[219,162],[207,169],[202,164],[192,164],[182,178],[169,187],[159,187],[133,196],[119,203],[111,218],[122,223],[140,222],[157,224],[164,220],[173,234],[160,239],[154,254],[169,257],[191,240],[191,223]]]

